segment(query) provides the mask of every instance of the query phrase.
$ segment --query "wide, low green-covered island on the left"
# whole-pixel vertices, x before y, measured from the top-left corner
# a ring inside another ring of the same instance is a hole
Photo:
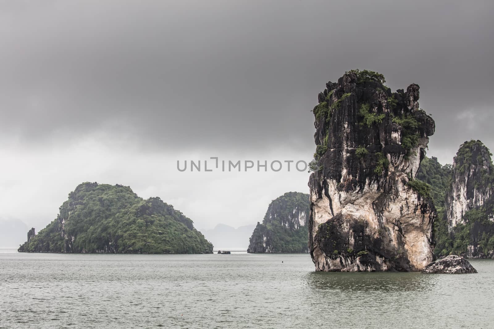
[[[147,200],[129,186],[82,183],[57,218],[19,252],[212,254],[213,246],[193,221],[159,197]]]

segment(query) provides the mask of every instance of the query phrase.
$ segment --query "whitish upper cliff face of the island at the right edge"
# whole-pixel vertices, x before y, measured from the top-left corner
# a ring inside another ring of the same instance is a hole
[[[453,159],[453,182],[446,193],[448,230],[464,224],[467,211],[482,206],[493,195],[492,162],[480,141],[463,143]]]

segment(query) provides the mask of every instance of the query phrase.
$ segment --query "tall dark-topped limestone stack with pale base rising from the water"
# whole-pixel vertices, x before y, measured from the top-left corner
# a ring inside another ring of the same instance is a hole
[[[433,260],[436,212],[413,178],[435,123],[419,110],[418,85],[391,93],[383,82],[345,73],[313,110],[308,228],[317,271],[419,271]]]

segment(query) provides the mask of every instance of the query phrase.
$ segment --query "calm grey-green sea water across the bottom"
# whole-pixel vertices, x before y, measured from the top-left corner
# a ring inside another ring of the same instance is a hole
[[[494,260],[471,263],[479,274],[316,273],[299,254],[0,252],[0,328],[494,328]]]

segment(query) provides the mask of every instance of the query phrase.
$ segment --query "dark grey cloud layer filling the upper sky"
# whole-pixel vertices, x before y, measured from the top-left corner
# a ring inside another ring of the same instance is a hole
[[[421,86],[431,153],[471,138],[458,115],[480,128],[493,102],[491,1],[1,7],[0,128],[25,145],[107,130],[143,147],[313,148],[317,94],[353,68]]]

